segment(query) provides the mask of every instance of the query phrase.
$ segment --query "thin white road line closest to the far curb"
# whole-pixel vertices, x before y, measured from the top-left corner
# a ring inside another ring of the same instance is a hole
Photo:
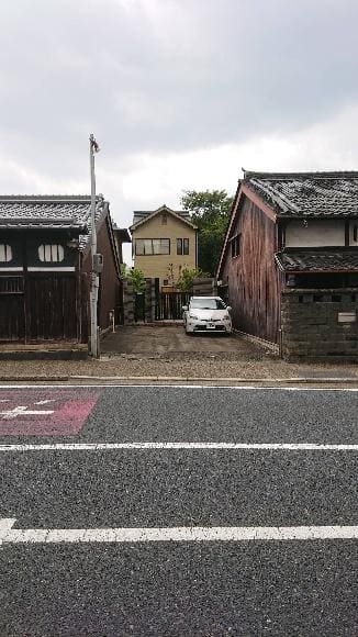
[[[294,379],[299,382],[300,379]],[[331,379],[332,382],[342,382],[342,379]],[[256,381],[259,382],[259,381]],[[265,382],[275,382],[275,381],[265,381]],[[358,383],[358,378],[357,378]],[[312,381],[314,384],[314,381]],[[172,384],[172,383],[156,383],[156,384],[128,384],[128,383],[116,383],[116,384],[100,384],[100,383],[92,383],[92,384],[0,384],[0,390],[7,389],[33,389],[36,391],[41,391],[43,389],[227,389],[232,391],[237,390],[245,390],[245,391],[316,391],[316,392],[358,392],[358,388],[329,388],[329,387],[276,387],[276,385],[248,385],[248,384]]]

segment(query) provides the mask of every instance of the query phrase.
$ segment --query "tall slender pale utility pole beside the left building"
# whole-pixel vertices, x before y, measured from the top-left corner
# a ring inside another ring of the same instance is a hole
[[[90,290],[90,316],[91,316],[91,340],[90,355],[93,358],[99,356],[98,325],[97,325],[97,305],[99,276],[96,268],[97,255],[97,232],[96,232],[96,175],[94,175],[94,153],[99,152],[99,145],[94,135],[89,137],[90,143],[90,175],[91,175],[91,290]]]

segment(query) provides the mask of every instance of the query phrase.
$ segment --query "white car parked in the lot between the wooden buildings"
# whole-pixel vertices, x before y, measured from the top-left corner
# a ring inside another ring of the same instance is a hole
[[[182,311],[186,334],[232,332],[231,308],[220,297],[192,297]]]

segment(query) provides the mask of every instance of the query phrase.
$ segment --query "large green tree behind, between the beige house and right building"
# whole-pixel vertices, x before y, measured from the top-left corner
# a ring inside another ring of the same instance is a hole
[[[198,267],[211,277],[215,273],[232,204],[233,197],[226,190],[184,190],[181,198],[183,210],[191,212],[191,221],[198,226]]]

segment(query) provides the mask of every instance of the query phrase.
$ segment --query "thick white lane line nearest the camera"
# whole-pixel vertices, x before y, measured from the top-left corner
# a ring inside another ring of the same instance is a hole
[[[163,528],[9,528],[3,544],[358,539],[358,526],[174,526]],[[0,522],[1,528],[1,522]]]

